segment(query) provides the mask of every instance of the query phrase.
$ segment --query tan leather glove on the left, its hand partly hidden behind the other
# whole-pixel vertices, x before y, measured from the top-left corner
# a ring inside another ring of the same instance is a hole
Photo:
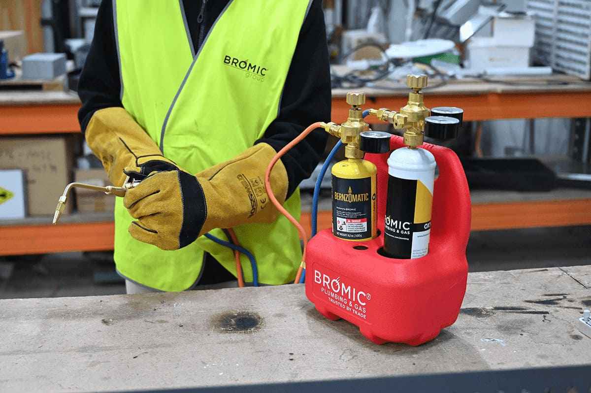
[[[137,173],[137,177],[147,177],[153,171],[178,169],[123,108],[96,111],[86,127],[85,137],[115,186],[123,185],[126,168]]]

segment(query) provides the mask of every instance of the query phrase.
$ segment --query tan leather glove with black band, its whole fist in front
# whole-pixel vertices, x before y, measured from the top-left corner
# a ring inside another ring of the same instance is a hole
[[[125,194],[125,207],[137,219],[129,233],[173,250],[214,228],[273,222],[278,212],[265,191],[265,170],[274,155],[270,145],[261,143],[196,176],[182,170],[151,174]],[[284,203],[288,181],[281,161],[270,180],[273,194]]]

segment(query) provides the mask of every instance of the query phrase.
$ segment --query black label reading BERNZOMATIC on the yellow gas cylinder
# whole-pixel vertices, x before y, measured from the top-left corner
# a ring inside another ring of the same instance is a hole
[[[361,240],[372,236],[371,177],[332,177],[333,235]]]

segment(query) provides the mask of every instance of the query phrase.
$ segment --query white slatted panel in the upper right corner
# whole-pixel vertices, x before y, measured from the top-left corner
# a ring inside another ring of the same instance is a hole
[[[591,79],[591,1],[528,0],[535,15],[534,59]]]

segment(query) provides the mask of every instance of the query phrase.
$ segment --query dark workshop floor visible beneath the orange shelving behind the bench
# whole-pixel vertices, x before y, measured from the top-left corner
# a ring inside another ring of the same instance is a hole
[[[467,257],[470,271],[591,265],[591,226],[473,232]],[[0,298],[122,293],[103,253],[0,258]]]

